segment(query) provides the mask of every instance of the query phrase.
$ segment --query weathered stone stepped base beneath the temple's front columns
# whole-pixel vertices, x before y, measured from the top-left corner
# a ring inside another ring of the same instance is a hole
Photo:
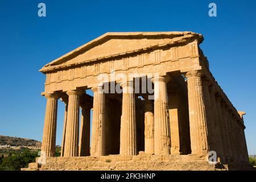
[[[38,160],[38,159],[37,159]],[[203,155],[137,155],[52,157],[46,164],[30,163],[23,171],[216,171],[226,170],[220,163],[209,164]]]

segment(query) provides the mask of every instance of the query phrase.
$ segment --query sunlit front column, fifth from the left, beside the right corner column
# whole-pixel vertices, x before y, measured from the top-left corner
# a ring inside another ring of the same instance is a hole
[[[171,150],[170,118],[168,110],[167,82],[168,76],[152,78],[154,83],[154,137],[155,154],[169,155]]]

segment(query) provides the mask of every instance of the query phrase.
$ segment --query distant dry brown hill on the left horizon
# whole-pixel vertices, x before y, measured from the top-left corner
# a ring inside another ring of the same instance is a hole
[[[41,142],[37,140],[0,135],[0,145],[6,144],[10,146],[41,146]]]

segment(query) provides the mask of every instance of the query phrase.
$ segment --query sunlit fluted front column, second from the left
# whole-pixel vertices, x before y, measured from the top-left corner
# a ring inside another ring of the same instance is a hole
[[[64,156],[79,156],[79,111],[82,90],[70,90],[68,94],[67,129]]]

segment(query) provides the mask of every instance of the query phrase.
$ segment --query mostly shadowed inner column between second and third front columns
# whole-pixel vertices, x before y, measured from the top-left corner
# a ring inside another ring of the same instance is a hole
[[[90,107],[82,105],[80,137],[79,137],[79,156],[90,155]]]

